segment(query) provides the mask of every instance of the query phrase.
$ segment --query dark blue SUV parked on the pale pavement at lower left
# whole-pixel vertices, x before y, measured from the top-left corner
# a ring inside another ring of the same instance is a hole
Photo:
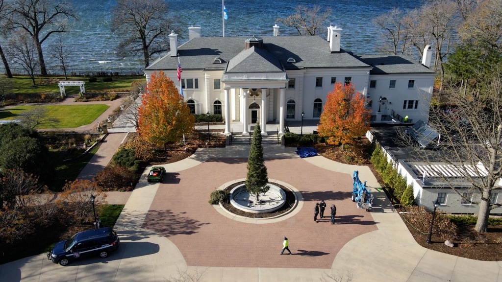
[[[61,265],[92,255],[105,258],[109,252],[118,248],[119,243],[117,233],[109,227],[82,231],[68,240],[57,242],[47,258]]]

